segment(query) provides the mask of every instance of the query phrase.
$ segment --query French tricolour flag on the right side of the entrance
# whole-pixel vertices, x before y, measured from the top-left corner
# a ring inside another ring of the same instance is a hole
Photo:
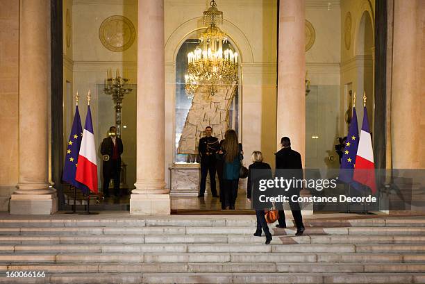
[[[372,194],[376,192],[374,151],[372,149],[372,137],[369,130],[366,106],[363,108],[363,124],[360,132],[360,141],[358,142],[353,180],[370,187]]]

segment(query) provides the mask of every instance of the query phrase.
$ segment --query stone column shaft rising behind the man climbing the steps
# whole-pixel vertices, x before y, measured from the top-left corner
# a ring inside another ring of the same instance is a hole
[[[281,137],[306,153],[305,0],[281,0],[278,35],[277,150]]]

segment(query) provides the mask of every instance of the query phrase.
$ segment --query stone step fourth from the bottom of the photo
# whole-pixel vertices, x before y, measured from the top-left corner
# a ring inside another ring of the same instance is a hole
[[[0,253],[425,253],[412,244],[15,244],[0,245]]]

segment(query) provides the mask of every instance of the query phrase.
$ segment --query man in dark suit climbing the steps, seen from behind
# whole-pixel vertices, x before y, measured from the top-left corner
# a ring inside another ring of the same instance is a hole
[[[291,149],[291,140],[289,137],[282,137],[281,147],[276,155],[276,176],[281,176],[283,178],[292,178],[302,179],[303,178],[303,165],[301,162],[301,155]],[[279,169],[282,169],[279,171]],[[292,211],[292,216],[294,217],[295,225],[297,226],[296,235],[302,235],[304,232],[303,225],[303,216],[301,215],[301,209],[299,208],[298,202],[292,202],[291,197],[293,195],[299,196],[299,191],[301,188],[294,186],[288,189],[286,195],[290,199],[290,208]],[[279,210],[279,224],[276,225],[278,228],[286,228],[285,222],[285,211]]]

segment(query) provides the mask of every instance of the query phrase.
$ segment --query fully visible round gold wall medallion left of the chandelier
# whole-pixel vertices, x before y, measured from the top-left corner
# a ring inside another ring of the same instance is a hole
[[[110,51],[125,51],[135,40],[135,28],[130,19],[119,15],[111,16],[102,22],[99,38]]]

